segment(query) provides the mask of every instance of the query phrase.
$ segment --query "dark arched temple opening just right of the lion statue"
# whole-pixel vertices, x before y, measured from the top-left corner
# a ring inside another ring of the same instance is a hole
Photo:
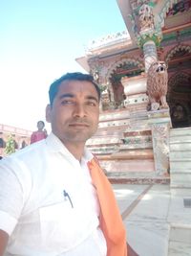
[[[191,126],[191,46],[179,44],[166,57],[168,63],[167,102],[173,128]]]

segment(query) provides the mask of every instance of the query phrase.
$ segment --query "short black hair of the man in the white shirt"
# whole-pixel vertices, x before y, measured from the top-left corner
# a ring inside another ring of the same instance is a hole
[[[62,83],[62,81],[91,81],[96,88],[96,92],[98,94],[98,101],[100,101],[101,92],[98,85],[96,84],[96,81],[94,81],[94,77],[89,74],[74,72],[74,73],[67,73],[63,75],[61,78],[57,79],[56,81],[53,81],[49,89],[49,99],[50,99],[51,105],[53,105],[53,100],[59,90],[59,86]]]

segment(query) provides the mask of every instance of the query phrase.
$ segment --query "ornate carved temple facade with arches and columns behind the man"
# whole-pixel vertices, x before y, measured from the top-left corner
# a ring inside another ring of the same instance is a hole
[[[76,58],[102,91],[99,128],[88,147],[108,176],[169,179],[171,130],[191,127],[191,0],[117,4],[127,31],[94,40]],[[157,61],[167,67],[167,107],[149,96],[149,70]]]

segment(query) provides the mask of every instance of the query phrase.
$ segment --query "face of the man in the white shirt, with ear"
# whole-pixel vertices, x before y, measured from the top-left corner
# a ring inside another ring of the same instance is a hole
[[[63,81],[47,107],[47,121],[65,146],[85,144],[96,132],[98,116],[98,94],[90,81]]]

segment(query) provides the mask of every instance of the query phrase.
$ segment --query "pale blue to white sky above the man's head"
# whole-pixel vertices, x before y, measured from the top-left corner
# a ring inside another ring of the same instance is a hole
[[[74,58],[91,40],[125,29],[117,0],[0,1],[0,124],[36,129],[50,84],[85,72]]]

